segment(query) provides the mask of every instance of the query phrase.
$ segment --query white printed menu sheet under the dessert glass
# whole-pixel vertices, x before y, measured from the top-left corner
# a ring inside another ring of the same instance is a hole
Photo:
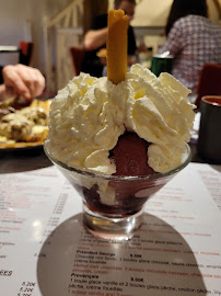
[[[53,166],[0,178],[0,295],[221,295],[221,169],[190,163],[153,195],[128,241],[82,225]]]

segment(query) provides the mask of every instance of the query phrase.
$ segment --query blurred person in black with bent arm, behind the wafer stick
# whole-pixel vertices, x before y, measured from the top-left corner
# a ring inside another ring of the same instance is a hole
[[[130,22],[133,19],[136,0],[115,0],[114,9],[121,9],[128,15],[128,55],[136,54],[136,38]],[[85,57],[83,60],[82,71],[94,77],[101,77],[104,64],[101,62],[97,53],[106,48],[107,41],[107,14],[98,15],[94,19],[91,29],[84,36]],[[142,48],[144,45],[141,45]]]

